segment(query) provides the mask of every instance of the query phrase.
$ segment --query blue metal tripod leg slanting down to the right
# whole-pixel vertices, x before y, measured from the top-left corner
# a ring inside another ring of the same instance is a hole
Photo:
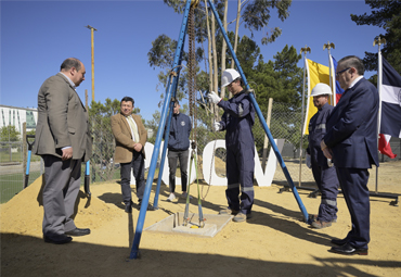
[[[235,55],[234,49],[232,48],[231,42],[230,42],[230,39],[229,39],[229,37],[227,36],[227,33],[225,33],[225,30],[224,30],[224,27],[223,27],[223,25],[222,25],[222,23],[221,23],[221,21],[220,21],[220,18],[219,18],[219,14],[217,13],[216,8],[215,8],[215,5],[212,4],[211,0],[208,0],[208,2],[209,2],[209,5],[210,5],[210,8],[211,8],[211,10],[212,10],[214,14],[215,14],[215,18],[216,18],[217,23],[218,23],[218,24],[219,24],[219,26],[220,26],[221,34],[223,35],[223,37],[224,37],[224,39],[225,39],[225,42],[227,42],[228,48],[229,48],[229,50],[230,50],[230,52],[231,52],[231,55],[232,55],[232,56],[233,56],[233,59],[234,59],[235,65],[236,65],[236,67],[238,68],[238,72],[240,72],[240,74],[241,74],[241,77],[242,77],[242,78],[243,78],[243,80],[244,80],[245,87],[246,87],[246,89],[247,89],[247,90],[249,90],[249,89],[250,89],[250,87],[249,87],[248,83],[246,81],[246,78],[245,78],[244,72],[243,72],[243,70],[242,70],[242,67],[241,67],[241,65],[240,65],[238,60],[236,59],[236,55]],[[249,93],[249,97],[250,97],[250,101],[253,102],[254,108],[255,108],[255,110],[256,110],[256,112],[257,112],[257,114],[258,114],[259,121],[260,121],[260,123],[261,123],[261,124],[262,124],[262,126],[263,126],[264,133],[266,133],[266,135],[268,136],[269,141],[270,141],[270,143],[271,143],[271,146],[272,146],[272,148],[273,148],[273,150],[274,150],[275,156],[277,158],[277,160],[279,160],[279,162],[280,162],[280,165],[281,165],[281,167],[282,167],[282,169],[283,169],[283,172],[284,172],[284,175],[285,175],[285,177],[287,178],[287,181],[288,181],[288,184],[289,184],[289,186],[290,186],[290,188],[292,188],[292,190],[293,190],[293,193],[294,193],[295,199],[297,200],[298,206],[299,206],[299,209],[301,210],[301,212],[302,212],[302,214],[303,214],[305,222],[309,222],[309,215],[308,215],[307,209],[305,207],[305,205],[303,205],[303,203],[302,203],[302,200],[300,199],[300,197],[299,197],[299,194],[298,194],[298,190],[297,190],[297,188],[294,186],[294,181],[293,181],[293,179],[292,179],[292,177],[290,177],[290,175],[289,175],[289,173],[288,173],[288,168],[287,168],[287,166],[286,166],[286,165],[285,165],[285,163],[284,163],[284,160],[283,160],[283,158],[282,158],[282,155],[281,155],[281,153],[280,153],[280,151],[279,151],[277,146],[276,146],[276,144],[275,144],[275,142],[274,142],[273,136],[272,136],[272,135],[271,135],[271,133],[270,133],[270,129],[269,129],[269,127],[268,127],[268,125],[267,125],[267,123],[266,123],[266,121],[264,121],[264,117],[263,117],[263,115],[262,115],[262,113],[261,113],[261,111],[260,111],[260,109],[259,109],[259,105],[258,105],[258,103],[256,102],[256,99],[255,99],[255,97],[254,97],[254,95],[253,95],[253,93]]]

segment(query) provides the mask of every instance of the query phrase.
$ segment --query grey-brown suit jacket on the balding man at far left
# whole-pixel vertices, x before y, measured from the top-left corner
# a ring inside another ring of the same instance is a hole
[[[73,159],[88,161],[92,154],[88,112],[61,73],[44,80],[38,93],[38,125],[33,153],[61,158],[63,147],[73,147]]]

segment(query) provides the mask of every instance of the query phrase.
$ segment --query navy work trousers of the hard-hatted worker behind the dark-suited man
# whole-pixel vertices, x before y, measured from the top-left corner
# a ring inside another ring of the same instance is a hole
[[[338,178],[336,168],[312,162],[312,173],[322,193],[318,221],[332,222],[337,218]]]

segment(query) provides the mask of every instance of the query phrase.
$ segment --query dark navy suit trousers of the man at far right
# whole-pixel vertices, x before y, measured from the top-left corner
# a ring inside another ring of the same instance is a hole
[[[337,167],[338,180],[351,215],[352,229],[347,239],[353,248],[366,248],[370,242],[371,203],[365,168]]]

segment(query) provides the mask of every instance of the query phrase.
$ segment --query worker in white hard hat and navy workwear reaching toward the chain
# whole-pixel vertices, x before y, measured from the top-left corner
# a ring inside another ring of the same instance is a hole
[[[233,214],[234,222],[245,222],[251,217],[255,197],[255,140],[251,130],[255,109],[248,93],[243,89],[243,80],[237,71],[225,70],[221,85],[233,93],[230,100],[222,100],[214,91],[208,95],[210,102],[224,110],[221,121],[214,125],[217,131],[225,130],[228,178],[225,197],[229,207],[221,210],[220,214]]]

